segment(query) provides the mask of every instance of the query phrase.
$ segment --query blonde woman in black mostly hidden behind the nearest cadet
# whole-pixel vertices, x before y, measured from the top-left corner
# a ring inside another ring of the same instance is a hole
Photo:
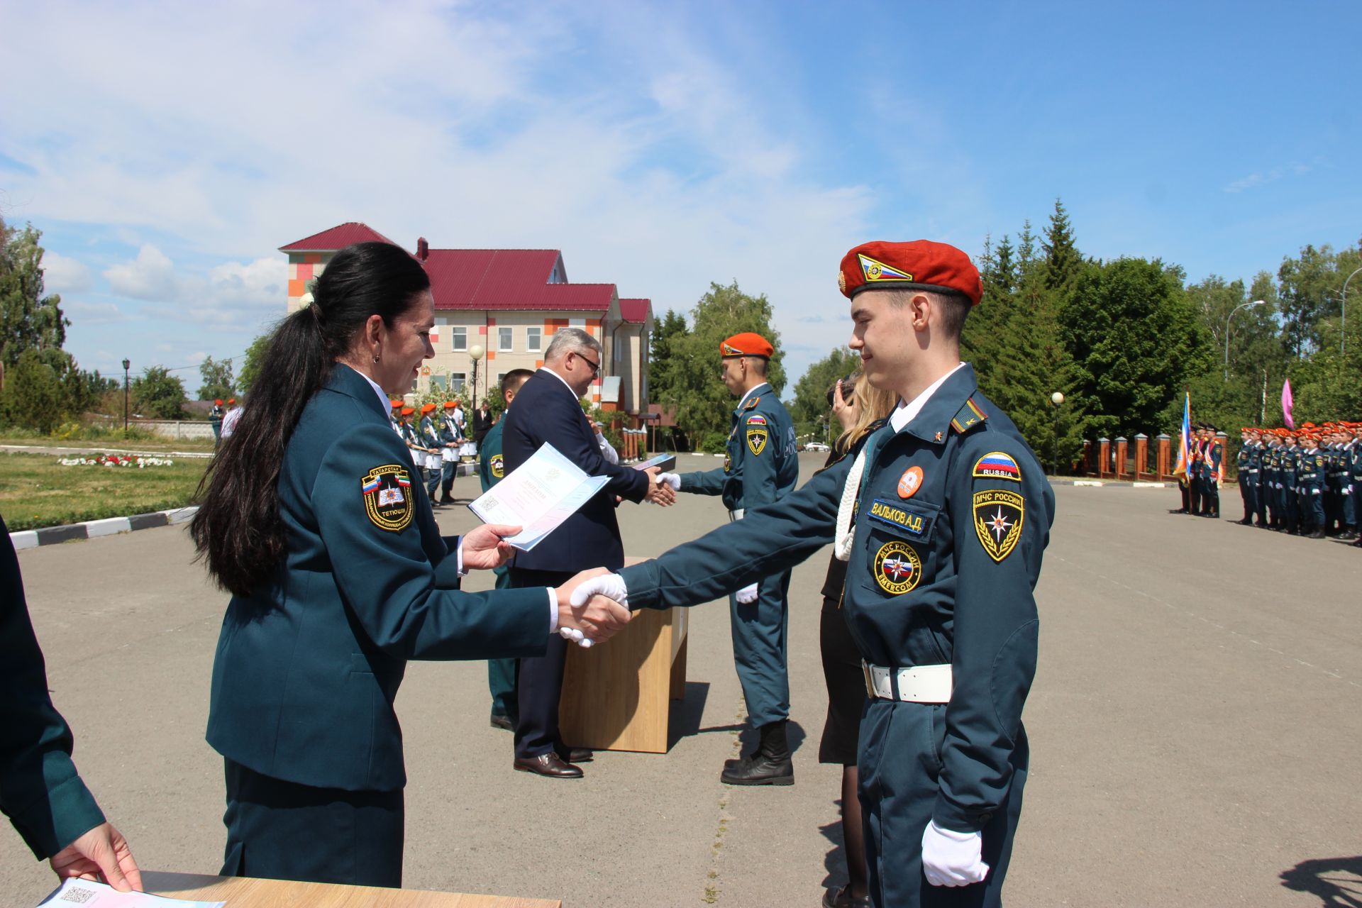
[[[844,396],[850,391],[849,396]],[[870,387],[859,370],[853,372],[828,392],[832,415],[842,425],[842,434],[828,453],[824,470],[854,457],[876,429],[884,425],[899,398],[893,392]],[[861,825],[861,802],[857,799],[857,730],[865,705],[865,674],[861,653],[851,640],[842,614],[842,588],[847,562],[828,560],[823,583],[823,617],[819,648],[823,652],[823,679],[828,685],[828,720],[819,742],[819,762],[842,764],[842,841],[847,859],[847,885],[829,889],[823,898],[825,908],[859,908],[870,905],[866,886],[865,832]]]

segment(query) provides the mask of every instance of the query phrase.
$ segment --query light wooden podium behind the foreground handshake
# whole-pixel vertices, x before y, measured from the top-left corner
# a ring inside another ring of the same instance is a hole
[[[558,726],[592,750],[667,751],[671,701],[685,697],[689,609],[640,609],[599,647],[568,647]]]

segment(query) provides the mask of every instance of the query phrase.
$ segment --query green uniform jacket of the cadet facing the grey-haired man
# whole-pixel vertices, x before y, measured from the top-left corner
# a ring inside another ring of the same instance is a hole
[[[799,481],[794,423],[771,385],[744,395],[729,429],[723,467],[681,474],[681,491],[723,496],[729,510],[783,498]]]

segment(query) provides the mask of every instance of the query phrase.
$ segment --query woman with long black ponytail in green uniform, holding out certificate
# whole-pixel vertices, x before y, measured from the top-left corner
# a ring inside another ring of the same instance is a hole
[[[519,528],[443,538],[390,430],[384,389],[434,355],[430,279],[406,250],[364,242],[313,297],[271,339],[191,521],[233,594],[207,734],[226,773],[222,873],[400,886],[407,662],[530,656],[556,628],[605,637],[628,613],[572,611],[567,588],[459,589],[466,568],[509,558],[501,538]]]

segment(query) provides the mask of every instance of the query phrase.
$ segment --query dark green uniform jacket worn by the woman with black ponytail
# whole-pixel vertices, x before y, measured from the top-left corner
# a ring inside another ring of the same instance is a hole
[[[400,788],[392,702],[407,660],[542,655],[545,591],[459,592],[455,540],[349,366],[304,410],[278,494],[286,553],[271,583],[227,606],[208,743],[285,781]]]

